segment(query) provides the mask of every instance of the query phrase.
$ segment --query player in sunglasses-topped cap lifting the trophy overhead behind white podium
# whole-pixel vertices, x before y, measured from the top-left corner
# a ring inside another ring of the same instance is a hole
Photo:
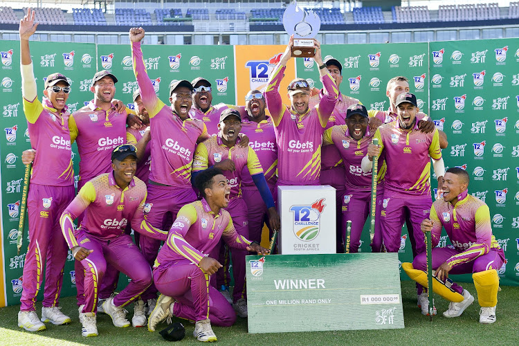
[[[286,62],[291,59],[293,37],[275,67],[265,91],[266,105],[274,124],[278,152],[279,185],[319,185],[322,133],[337,102],[338,90],[322,63],[320,43],[314,39],[320,80],[325,92],[318,107],[309,108],[310,88],[296,78],[289,84],[291,107],[282,104],[279,87]]]

